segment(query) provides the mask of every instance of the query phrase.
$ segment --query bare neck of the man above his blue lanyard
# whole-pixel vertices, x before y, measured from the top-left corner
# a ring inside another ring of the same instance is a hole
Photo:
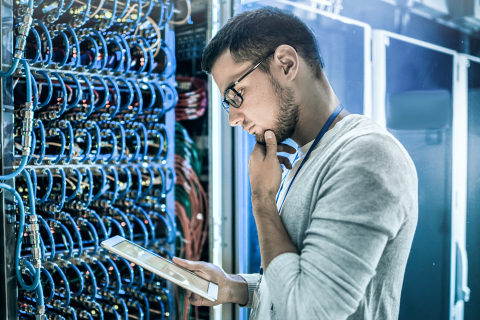
[[[300,92],[298,123],[291,139],[298,146],[303,146],[316,138],[331,113],[340,104],[340,100],[333,92],[323,72],[320,79],[312,81],[311,78],[308,78],[299,83],[298,92]],[[328,130],[348,114],[343,109],[335,117]]]

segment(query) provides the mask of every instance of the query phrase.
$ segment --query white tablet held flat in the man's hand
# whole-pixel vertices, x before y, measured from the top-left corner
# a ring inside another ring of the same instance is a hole
[[[217,284],[119,235],[102,241],[101,246],[207,300],[215,302],[217,299]]]

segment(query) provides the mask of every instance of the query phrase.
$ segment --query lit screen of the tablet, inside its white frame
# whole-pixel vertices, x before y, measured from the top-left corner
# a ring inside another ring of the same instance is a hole
[[[157,269],[169,276],[177,279],[183,284],[196,288],[203,293],[208,292],[209,282],[198,275],[179,267],[178,265],[154,254],[153,252],[144,250],[141,246],[138,246],[130,241],[121,241],[113,245],[117,250],[125,252],[126,254],[134,257],[135,259]]]

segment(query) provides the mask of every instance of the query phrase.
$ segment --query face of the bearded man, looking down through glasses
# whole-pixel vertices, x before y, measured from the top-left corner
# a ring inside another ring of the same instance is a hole
[[[253,62],[235,63],[229,50],[223,52],[211,70],[221,95],[253,65]],[[230,105],[228,118],[231,126],[241,125],[243,130],[254,134],[256,141],[262,144],[265,143],[263,136],[266,130],[273,131],[278,143],[293,134],[298,121],[298,104],[291,88],[282,87],[273,75],[258,69],[234,88],[243,97],[243,102],[239,108]]]

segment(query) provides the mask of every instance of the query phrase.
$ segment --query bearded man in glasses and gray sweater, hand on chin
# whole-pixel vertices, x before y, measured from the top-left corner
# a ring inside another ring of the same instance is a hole
[[[256,290],[259,274],[174,258],[219,286],[215,303],[186,291],[192,304],[253,303],[262,320],[398,317],[416,171],[392,135],[342,109],[322,64],[311,29],[273,7],[234,16],[206,47],[230,124],[257,140],[248,165],[264,272]],[[286,138],[299,146],[293,167],[277,157],[295,152]]]

